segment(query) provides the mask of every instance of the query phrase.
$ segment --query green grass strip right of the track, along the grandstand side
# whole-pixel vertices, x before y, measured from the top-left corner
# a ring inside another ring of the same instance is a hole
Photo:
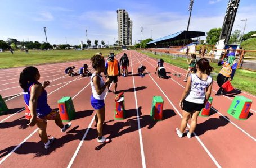
[[[165,62],[173,64],[177,67],[181,67],[183,69],[188,68],[186,58],[179,58],[173,59],[167,55],[154,55],[152,53],[141,52],[143,54],[149,55],[149,57],[157,58],[157,59],[164,59]],[[198,58],[199,59],[199,58]],[[221,66],[218,66],[217,63],[210,63],[210,65],[214,68],[214,74],[218,74]],[[217,75],[213,76],[213,79],[216,81]],[[235,77],[232,80],[232,85],[239,90],[249,92],[250,94],[256,95],[256,72],[247,71],[244,69],[237,69],[235,73]]]

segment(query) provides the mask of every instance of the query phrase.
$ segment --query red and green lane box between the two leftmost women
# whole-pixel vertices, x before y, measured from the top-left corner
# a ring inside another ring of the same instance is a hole
[[[75,108],[71,97],[62,97],[58,101],[58,106],[62,122],[69,122],[75,118]]]

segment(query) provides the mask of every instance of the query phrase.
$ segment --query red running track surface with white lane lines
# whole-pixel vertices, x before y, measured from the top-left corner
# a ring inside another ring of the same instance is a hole
[[[0,116],[1,167],[45,167],[50,164],[52,167],[253,167],[256,164],[254,104],[248,120],[236,120],[227,114],[233,97],[215,96],[213,91],[215,111],[211,111],[209,118],[199,117],[196,136],[191,139],[186,136],[178,138],[174,130],[181,122],[182,110],[178,107],[178,102],[186,84],[182,81],[183,78],[170,74],[171,78],[168,80],[159,79],[154,74],[155,59],[135,51],[127,51],[127,54],[131,63],[128,70],[133,73],[128,77],[118,78],[118,90],[125,92],[127,119],[113,120],[115,95],[109,93],[105,99],[104,134],[111,138],[110,143],[99,144],[96,141],[97,132],[93,121],[95,113],[89,102],[89,78],[62,77],[64,74],[61,72],[55,77],[47,77],[51,75],[47,74],[50,67],[58,69],[73,64],[82,66],[88,60],[38,66],[41,73],[46,73],[44,75],[47,79],[57,79],[51,83],[52,87],[47,88],[50,106],[57,108],[57,100],[62,96],[71,96],[77,118],[73,120],[67,133],[61,133],[54,122],[49,121],[47,133],[57,139],[50,150],[44,150],[43,143],[35,132],[36,127],[25,126],[28,122],[24,118],[24,111],[12,114],[24,107],[22,96],[7,100],[12,112]],[[120,55],[117,57],[120,58]],[[147,68],[148,74],[144,78],[136,76],[140,64]],[[167,63],[165,68],[172,73],[186,73],[186,70]],[[16,75],[21,69],[1,72],[12,71]],[[0,81],[12,78],[15,76],[0,78]],[[5,82],[15,82],[15,79]],[[217,83],[214,82],[213,90],[217,89]],[[21,92],[20,88],[14,90],[14,94]],[[150,118],[152,96],[156,95],[164,99],[162,122],[154,122]],[[255,101],[255,96],[246,92],[239,95]]]

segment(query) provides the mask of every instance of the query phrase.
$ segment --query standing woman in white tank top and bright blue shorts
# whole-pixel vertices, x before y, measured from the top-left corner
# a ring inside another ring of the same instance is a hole
[[[91,76],[91,105],[96,111],[95,122],[97,124],[98,139],[100,143],[109,142],[110,140],[102,136],[103,123],[105,120],[105,104],[104,98],[106,95],[106,87],[111,83],[109,78],[106,79],[106,83],[103,81],[101,72],[105,70],[105,60],[101,55],[94,55],[91,58],[92,67],[95,72]]]

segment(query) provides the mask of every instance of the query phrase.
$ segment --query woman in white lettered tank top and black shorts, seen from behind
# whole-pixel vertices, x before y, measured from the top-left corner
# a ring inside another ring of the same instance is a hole
[[[196,64],[196,70],[196,73],[188,76],[186,88],[179,101],[179,106],[182,108],[182,120],[179,129],[176,128],[176,133],[180,138],[190,118],[190,130],[186,130],[186,133],[187,137],[191,138],[196,128],[197,117],[212,91],[213,79],[210,72],[213,71],[213,67],[210,66],[209,61],[205,58],[200,59]]]

